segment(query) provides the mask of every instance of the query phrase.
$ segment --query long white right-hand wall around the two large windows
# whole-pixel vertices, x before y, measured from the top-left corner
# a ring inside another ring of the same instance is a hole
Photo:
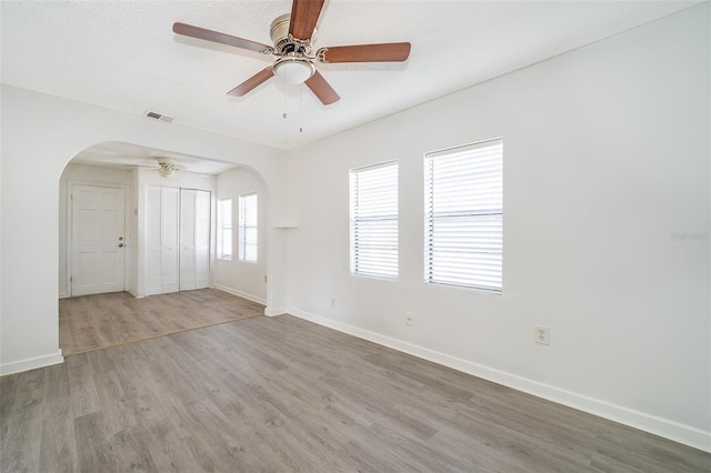
[[[709,44],[705,3],[292,152],[289,312],[711,450]],[[423,153],[495,137],[503,295],[428,286]],[[349,169],[393,159],[400,278],[351,276]]]

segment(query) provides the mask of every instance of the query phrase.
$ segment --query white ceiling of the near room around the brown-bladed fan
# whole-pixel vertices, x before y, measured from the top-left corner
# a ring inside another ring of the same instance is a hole
[[[170,127],[293,149],[697,3],[327,0],[317,47],[412,43],[404,63],[318,64],[341,95],[327,107],[304,85],[277,78],[229,97],[272,57],[171,30],[181,21],[270,44],[270,23],[291,0],[2,0],[1,78],[137,115],[157,111],[174,117]],[[113,144],[81,159],[106,164],[120,153],[147,159],[159,151]]]

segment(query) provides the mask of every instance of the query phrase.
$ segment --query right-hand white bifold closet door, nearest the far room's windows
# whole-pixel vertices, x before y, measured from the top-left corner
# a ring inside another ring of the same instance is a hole
[[[210,192],[180,190],[180,290],[210,285]]]

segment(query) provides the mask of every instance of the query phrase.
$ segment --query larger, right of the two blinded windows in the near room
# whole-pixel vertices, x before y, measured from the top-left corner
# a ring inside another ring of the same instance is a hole
[[[502,291],[503,141],[424,157],[424,280]]]

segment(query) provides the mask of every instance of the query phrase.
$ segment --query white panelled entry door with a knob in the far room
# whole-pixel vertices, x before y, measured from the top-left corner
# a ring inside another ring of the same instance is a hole
[[[124,290],[123,189],[72,187],[71,295]]]

